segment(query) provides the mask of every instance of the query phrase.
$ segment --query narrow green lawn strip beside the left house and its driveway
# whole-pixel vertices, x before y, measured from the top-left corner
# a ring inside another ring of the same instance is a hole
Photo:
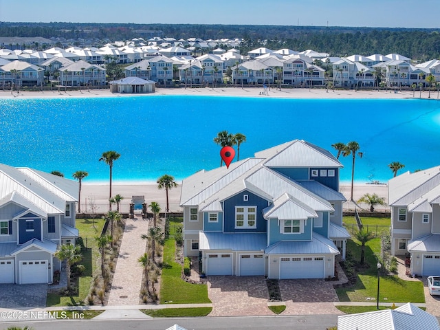
[[[93,275],[99,267],[97,261],[100,253],[94,237],[100,235],[103,226],[104,219],[95,219],[95,221],[92,219],[76,219],[76,228],[78,228],[80,236],[83,237],[84,245],[86,245],[85,251],[83,251],[83,260],[80,262],[85,265],[85,271],[79,278],[78,295],[59,296],[58,294],[47,294],[47,306],[84,305],[84,300],[89,294]]]

